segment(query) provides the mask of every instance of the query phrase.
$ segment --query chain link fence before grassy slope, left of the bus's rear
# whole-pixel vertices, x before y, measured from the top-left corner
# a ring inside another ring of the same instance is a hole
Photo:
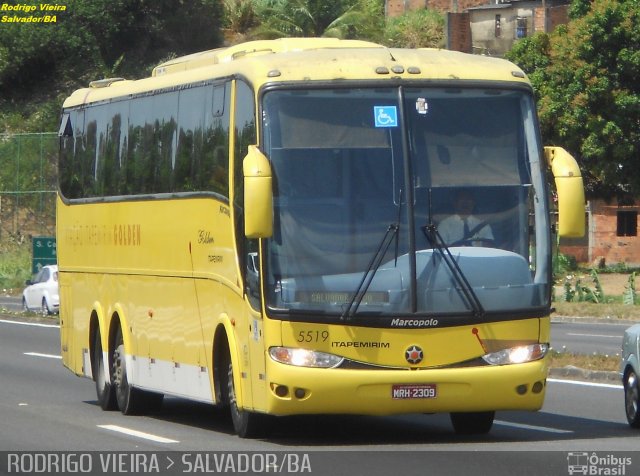
[[[55,234],[58,135],[0,134],[0,242]]]

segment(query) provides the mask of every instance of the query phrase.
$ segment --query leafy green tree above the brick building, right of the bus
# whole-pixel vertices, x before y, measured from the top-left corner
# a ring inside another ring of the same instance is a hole
[[[640,194],[640,9],[638,0],[579,1],[548,38],[509,58],[530,74],[547,142],[581,162],[591,196]],[[548,45],[545,43],[548,41]]]

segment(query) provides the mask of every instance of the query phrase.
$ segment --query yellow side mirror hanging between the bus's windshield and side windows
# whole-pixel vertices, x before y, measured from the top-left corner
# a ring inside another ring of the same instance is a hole
[[[273,188],[271,165],[255,145],[242,162],[244,174],[244,232],[247,238],[273,234]]]

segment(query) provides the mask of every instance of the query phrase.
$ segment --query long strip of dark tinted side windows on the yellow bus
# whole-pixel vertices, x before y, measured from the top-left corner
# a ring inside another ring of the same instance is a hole
[[[229,104],[227,81],[65,111],[62,194],[210,191],[228,197]]]

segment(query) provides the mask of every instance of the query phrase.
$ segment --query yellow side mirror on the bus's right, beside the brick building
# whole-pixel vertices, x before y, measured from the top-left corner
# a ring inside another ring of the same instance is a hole
[[[544,156],[558,192],[558,235],[565,238],[584,236],[584,185],[578,163],[562,147],[545,147]]]

